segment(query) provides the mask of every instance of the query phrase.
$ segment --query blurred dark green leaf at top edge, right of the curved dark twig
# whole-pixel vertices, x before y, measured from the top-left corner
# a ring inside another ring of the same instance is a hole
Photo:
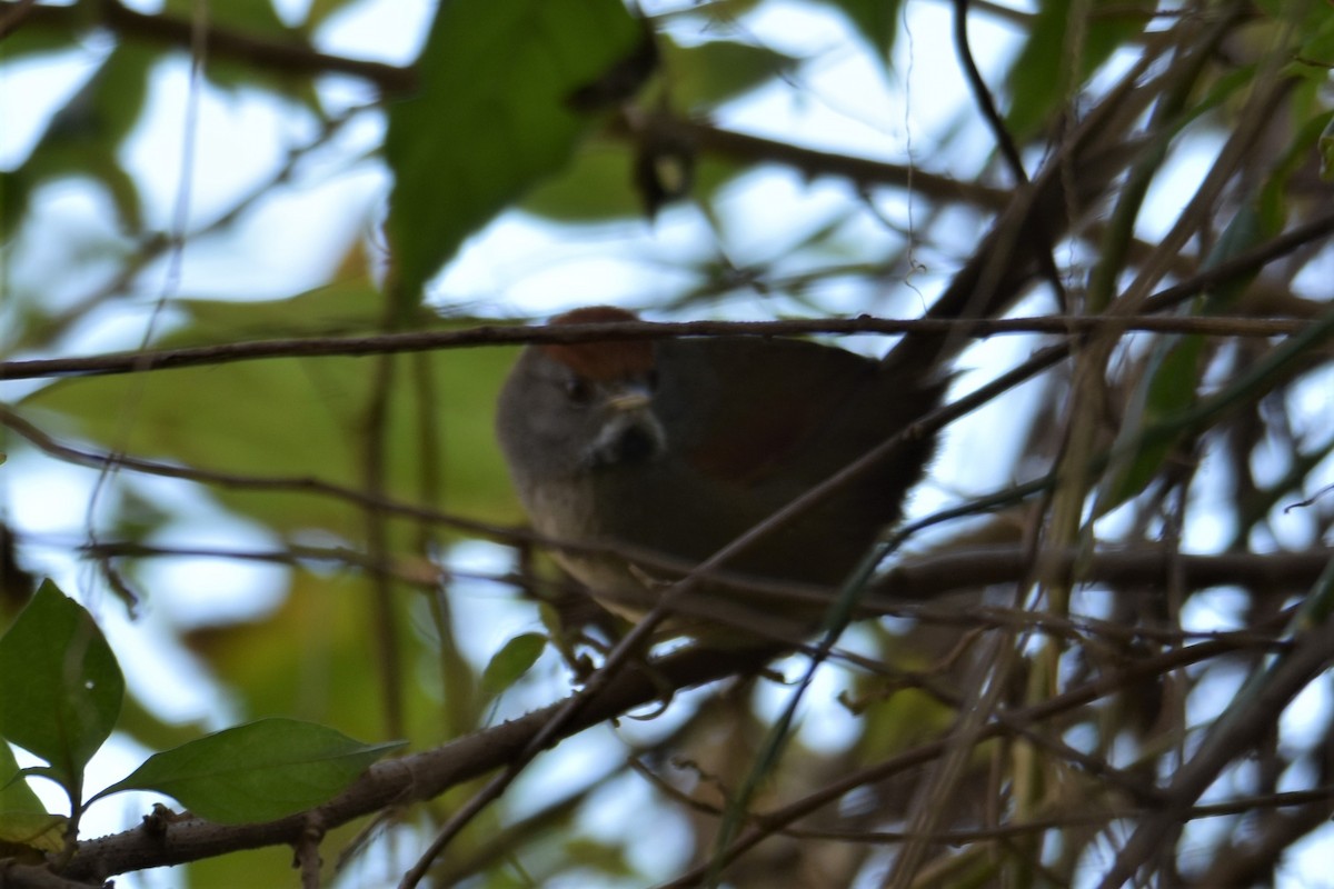
[[[1043,0],[1033,19],[1033,31],[1007,76],[1010,109],[1006,123],[1015,139],[1037,135],[1053,111],[1083,85],[1114,49],[1143,31],[1151,15],[1119,0],[1094,0],[1086,23],[1073,23],[1079,7],[1065,0]],[[1079,56],[1071,55],[1073,29],[1086,28],[1078,40]]]

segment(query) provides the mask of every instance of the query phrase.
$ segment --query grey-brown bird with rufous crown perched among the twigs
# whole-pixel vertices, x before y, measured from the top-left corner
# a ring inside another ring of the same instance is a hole
[[[635,320],[595,305],[551,324]],[[496,437],[558,564],[638,621],[678,577],[908,429],[947,383],[932,368],[802,339],[542,343],[524,348],[502,388]],[[756,590],[843,582],[900,518],[935,445],[935,435],[900,436],[867,472],[730,558],[720,573],[735,582],[703,584],[692,616],[668,626],[808,633],[823,608]]]

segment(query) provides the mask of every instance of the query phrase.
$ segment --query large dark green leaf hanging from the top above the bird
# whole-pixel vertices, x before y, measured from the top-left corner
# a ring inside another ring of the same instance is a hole
[[[390,108],[384,141],[400,308],[464,237],[566,165],[590,123],[572,95],[642,40],[620,0],[440,4],[420,92]]]

